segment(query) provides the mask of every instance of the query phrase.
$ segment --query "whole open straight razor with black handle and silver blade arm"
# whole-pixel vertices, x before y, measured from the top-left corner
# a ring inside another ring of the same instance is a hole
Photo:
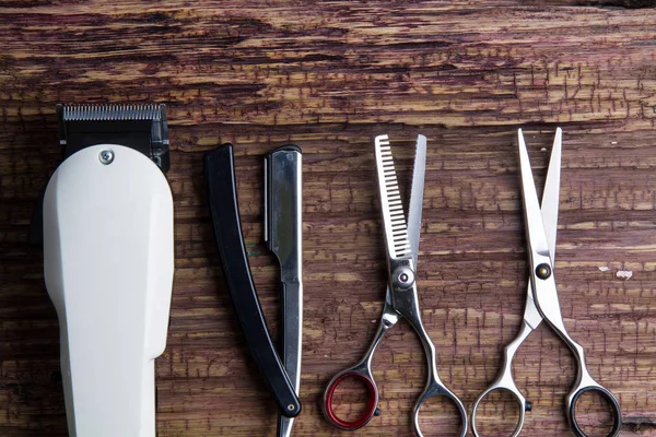
[[[277,354],[250,275],[242,236],[232,144],[204,156],[209,204],[223,274],[246,343],[280,411],[279,436],[301,413],[301,151],[285,146],[266,158],[266,240],[281,264],[282,361]]]

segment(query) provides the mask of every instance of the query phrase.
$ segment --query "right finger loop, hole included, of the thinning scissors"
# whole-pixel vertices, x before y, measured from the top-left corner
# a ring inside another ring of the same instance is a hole
[[[426,399],[419,408],[419,428],[424,437],[458,437],[462,435],[460,410],[446,395]]]

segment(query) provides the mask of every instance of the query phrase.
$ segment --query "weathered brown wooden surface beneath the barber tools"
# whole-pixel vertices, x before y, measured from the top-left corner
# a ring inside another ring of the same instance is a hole
[[[423,320],[442,378],[470,408],[524,308],[516,129],[525,129],[541,184],[558,126],[565,324],[591,374],[618,395],[622,435],[656,435],[654,3],[0,0],[0,436],[67,435],[56,314],[42,252],[25,244],[59,161],[55,104],[125,102],[168,105],[176,275],[156,362],[160,437],[274,435],[274,404],[222,280],[203,152],[236,145],[245,238],[277,332],[261,156],[285,142],[303,147],[304,411],[294,435],[345,436],[324,420],[319,400],[365,351],[383,307],[372,137],[398,144],[406,182],[414,138],[429,137]],[[408,324],[389,332],[374,367],[383,415],[351,435],[411,435],[425,370]],[[514,368],[534,403],[523,436],[571,435],[563,399],[574,359],[565,345],[541,327]],[[356,389],[341,391],[342,415],[362,401]],[[581,410],[583,423],[607,416],[598,399]],[[487,422],[496,436],[516,409],[488,403],[485,412],[505,416]],[[426,436],[457,435],[454,409],[436,402],[423,413]]]

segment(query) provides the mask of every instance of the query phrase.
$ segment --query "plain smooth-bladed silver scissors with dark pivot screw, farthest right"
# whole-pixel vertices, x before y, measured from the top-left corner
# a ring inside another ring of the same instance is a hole
[[[620,433],[622,426],[620,404],[608,389],[601,387],[593,379],[585,365],[583,347],[567,334],[561,315],[558,288],[553,277],[559,210],[562,130],[558,128],[555,131],[551,158],[549,161],[549,170],[544,182],[544,192],[542,194],[541,210],[522,129],[518,131],[518,143],[524,221],[526,239],[528,243],[528,258],[530,261],[530,279],[526,295],[526,307],[524,309],[524,322],[522,323],[522,329],[519,330],[517,338],[504,349],[503,366],[499,376],[492,386],[479,395],[473,404],[473,410],[471,412],[471,429],[476,437],[481,436],[476,427],[476,413],[480,402],[494,390],[505,390],[511,392],[519,404],[519,418],[512,437],[519,435],[522,427],[524,426],[525,412],[531,410],[531,404],[526,401],[524,395],[522,395],[522,392],[519,392],[515,386],[512,362],[522,343],[536,328],[538,328],[540,322],[544,320],[572,350],[578,366],[576,381],[565,400],[570,427],[577,437],[586,437],[586,434],[581,429],[576,422],[576,403],[583,393],[593,391],[601,394],[611,405],[613,425],[612,430],[608,436],[614,437]]]

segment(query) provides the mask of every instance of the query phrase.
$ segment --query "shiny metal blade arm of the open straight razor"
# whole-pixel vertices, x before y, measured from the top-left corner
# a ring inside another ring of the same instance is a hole
[[[283,145],[265,157],[265,240],[280,262],[282,364],[298,394],[303,328],[301,149]],[[292,417],[278,417],[278,436],[289,437]]]

